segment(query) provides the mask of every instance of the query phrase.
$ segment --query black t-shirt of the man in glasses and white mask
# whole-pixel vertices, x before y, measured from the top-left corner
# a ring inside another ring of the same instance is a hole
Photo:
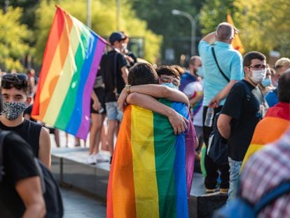
[[[266,104],[258,86],[247,81],[235,83],[230,90],[221,114],[231,116],[228,152],[234,161],[242,161],[258,121],[265,115]]]

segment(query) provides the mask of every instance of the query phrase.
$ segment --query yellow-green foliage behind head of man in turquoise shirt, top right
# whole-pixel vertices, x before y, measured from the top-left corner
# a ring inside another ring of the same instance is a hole
[[[289,0],[207,0],[201,11],[202,33],[214,31],[231,13],[246,50],[290,57]]]

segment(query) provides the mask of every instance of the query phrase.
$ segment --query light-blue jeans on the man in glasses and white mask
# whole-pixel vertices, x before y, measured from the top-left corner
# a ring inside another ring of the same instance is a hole
[[[234,161],[229,157],[228,163],[230,165],[230,189],[228,190],[228,200],[226,201],[227,204],[235,197],[237,192],[237,181],[240,177],[242,161]]]

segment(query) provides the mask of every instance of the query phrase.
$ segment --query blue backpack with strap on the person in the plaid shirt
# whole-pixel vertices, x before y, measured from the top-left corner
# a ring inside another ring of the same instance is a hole
[[[279,184],[274,189],[265,193],[262,198],[256,203],[251,204],[241,196],[230,201],[228,205],[224,205],[219,210],[214,212],[213,218],[254,218],[257,217],[258,213],[263,210],[264,207],[270,205],[280,196],[286,193],[290,193],[290,181]]]

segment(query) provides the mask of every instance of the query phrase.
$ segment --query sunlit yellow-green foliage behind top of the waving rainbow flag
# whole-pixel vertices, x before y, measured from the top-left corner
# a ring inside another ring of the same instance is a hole
[[[86,1],[78,0],[71,4],[71,1],[41,1],[39,9],[36,11],[36,26],[38,30],[36,41],[37,62],[41,62],[43,51],[46,46],[48,32],[55,14],[55,3],[64,10],[76,17],[83,23],[86,23]],[[153,32],[146,29],[146,22],[135,18],[130,1],[122,1],[120,6],[120,30],[126,32],[129,36],[144,37],[145,59],[155,63],[159,54],[161,38]],[[108,0],[105,2],[92,0],[92,30],[104,38],[111,32],[116,31],[116,1]]]

